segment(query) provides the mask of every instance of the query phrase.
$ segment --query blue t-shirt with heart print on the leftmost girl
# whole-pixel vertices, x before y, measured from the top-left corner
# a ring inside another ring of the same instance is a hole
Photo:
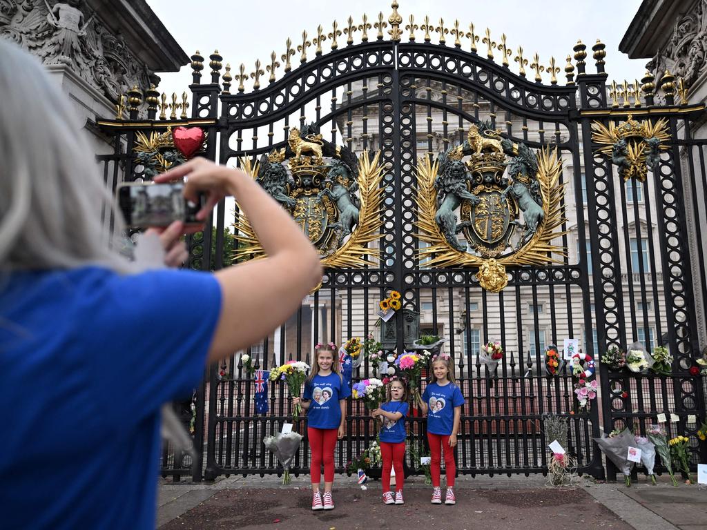
[[[341,404],[339,399],[351,396],[351,389],[334,372],[329,375],[315,375],[305,383],[303,399],[310,399],[307,411],[308,427],[317,429],[338,429],[341,425]]]

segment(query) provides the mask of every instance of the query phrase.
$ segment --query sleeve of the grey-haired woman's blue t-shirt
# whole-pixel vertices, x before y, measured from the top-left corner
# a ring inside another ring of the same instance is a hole
[[[83,288],[76,317],[90,322],[84,338],[94,352],[92,377],[104,420],[136,424],[192,394],[221,314],[221,286],[213,275],[172,269],[111,274]]]

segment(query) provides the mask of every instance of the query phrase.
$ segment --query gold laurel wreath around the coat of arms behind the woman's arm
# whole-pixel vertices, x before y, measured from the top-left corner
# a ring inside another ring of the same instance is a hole
[[[380,208],[382,205],[382,188],[380,182],[385,174],[385,168],[379,162],[380,152],[369,159],[368,151],[358,158],[358,189],[361,195],[361,208],[358,210],[358,225],[344,242],[332,254],[322,258],[322,266],[329,268],[359,269],[370,265],[366,258],[380,259],[380,249],[370,249],[368,243],[380,239],[380,228],[383,224]],[[252,164],[250,158],[240,158],[241,169],[255,179],[258,175],[259,163]],[[231,235],[237,240],[239,248],[233,252],[233,258],[238,261],[247,259],[262,259],[265,251],[258,241],[247,217],[238,208],[235,211]]]

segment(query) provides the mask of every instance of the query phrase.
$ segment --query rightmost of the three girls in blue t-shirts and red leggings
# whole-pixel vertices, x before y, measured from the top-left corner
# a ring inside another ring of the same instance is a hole
[[[454,505],[454,478],[457,467],[454,461],[454,447],[457,445],[457,431],[464,397],[454,380],[454,365],[448,353],[440,353],[432,358],[433,382],[427,385],[416,401],[427,416],[427,440],[430,444],[430,473],[432,475],[432,504],[442,504],[440,490],[441,453],[444,453],[444,464],[447,470],[447,494],[445,505]]]

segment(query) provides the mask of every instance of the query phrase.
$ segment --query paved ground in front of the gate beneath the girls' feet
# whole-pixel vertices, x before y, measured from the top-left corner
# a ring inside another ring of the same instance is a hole
[[[175,529],[484,529],[707,530],[707,488],[640,482],[547,488],[544,477],[460,477],[456,506],[430,504],[421,477],[405,483],[404,506],[380,501],[380,481],[361,490],[337,476],[331,512],[310,510],[308,477],[282,486],[279,478],[223,478],[216,483],[160,483],[158,527]]]

